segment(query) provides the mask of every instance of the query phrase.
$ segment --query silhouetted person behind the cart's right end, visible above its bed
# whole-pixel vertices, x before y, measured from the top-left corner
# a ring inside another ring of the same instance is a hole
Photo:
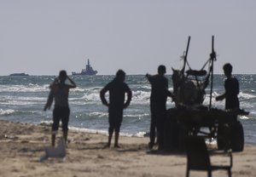
[[[232,76],[232,66],[227,63],[223,66],[224,75],[227,77],[224,81],[225,93],[216,97],[216,100],[225,99],[226,110],[237,110],[239,108],[239,100],[237,95],[239,94],[239,83],[236,77]]]

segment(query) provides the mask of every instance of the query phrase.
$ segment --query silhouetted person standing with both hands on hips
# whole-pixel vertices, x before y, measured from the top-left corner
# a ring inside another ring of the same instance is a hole
[[[109,92],[109,102],[105,98],[105,94]],[[125,101],[125,94],[127,99]],[[131,89],[125,83],[125,71],[119,70],[113,81],[102,88],[101,93],[102,104],[108,106],[108,144],[109,147],[114,131],[114,147],[119,147],[119,131],[123,120],[123,110],[130,105]]]

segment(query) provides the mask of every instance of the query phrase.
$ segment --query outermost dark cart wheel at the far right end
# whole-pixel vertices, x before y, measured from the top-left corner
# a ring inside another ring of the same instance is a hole
[[[244,146],[244,134],[243,128],[239,121],[232,124],[231,127],[231,146],[232,151],[243,151]]]

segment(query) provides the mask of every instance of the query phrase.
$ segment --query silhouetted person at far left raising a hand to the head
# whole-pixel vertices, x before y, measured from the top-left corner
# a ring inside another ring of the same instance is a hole
[[[65,83],[66,79],[68,79],[71,84]],[[63,70],[60,71],[59,77],[56,78],[55,81],[49,86],[50,92],[47,103],[44,106],[44,111],[50,109],[53,100],[55,100],[51,135],[52,146],[55,146],[55,135],[58,131],[60,121],[62,123],[63,138],[65,142],[67,142],[68,121],[70,113],[68,106],[68,93],[70,88],[76,87],[77,86],[73,80],[67,76],[67,72]]]

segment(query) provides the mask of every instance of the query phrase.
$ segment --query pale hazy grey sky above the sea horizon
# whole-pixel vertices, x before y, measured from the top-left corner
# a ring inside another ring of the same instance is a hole
[[[119,69],[155,74],[188,61],[199,70],[212,52],[214,74],[230,62],[235,74],[256,74],[255,0],[0,0],[0,76],[98,75]]]

